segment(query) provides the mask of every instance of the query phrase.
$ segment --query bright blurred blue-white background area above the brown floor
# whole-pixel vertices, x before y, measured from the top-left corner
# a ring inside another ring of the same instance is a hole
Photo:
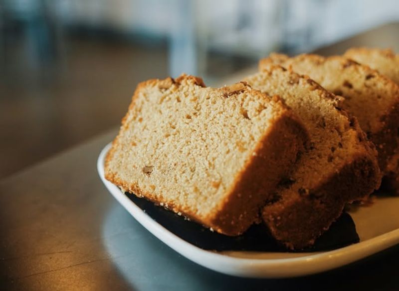
[[[53,15],[46,25],[166,39],[173,76],[203,74],[210,52],[299,53],[399,20],[397,0],[2,0],[0,9],[22,20]]]

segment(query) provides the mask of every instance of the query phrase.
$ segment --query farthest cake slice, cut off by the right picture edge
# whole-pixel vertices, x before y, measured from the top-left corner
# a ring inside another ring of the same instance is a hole
[[[379,71],[384,76],[393,80],[399,85],[399,55],[391,49],[379,48],[351,48],[347,50],[344,56],[349,57],[361,64],[370,66]],[[399,139],[399,132],[396,136]],[[399,142],[398,142],[399,144]],[[382,183],[382,188],[391,193],[399,195],[399,149],[387,164],[386,176]]]

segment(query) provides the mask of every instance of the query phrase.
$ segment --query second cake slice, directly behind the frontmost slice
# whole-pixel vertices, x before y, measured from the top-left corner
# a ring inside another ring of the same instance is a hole
[[[338,97],[309,77],[271,65],[244,81],[279,95],[309,132],[309,149],[262,211],[274,238],[290,249],[303,249],[330,227],[346,203],[379,187],[377,151],[356,118],[341,109]]]

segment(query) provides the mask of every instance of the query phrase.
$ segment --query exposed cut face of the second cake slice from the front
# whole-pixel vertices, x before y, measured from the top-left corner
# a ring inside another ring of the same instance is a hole
[[[301,116],[308,129],[311,148],[302,154],[293,174],[304,176],[308,173],[306,177],[294,179],[301,181],[301,187],[318,187],[357,156],[368,157],[375,164],[376,172],[379,172],[377,150],[368,141],[357,119],[341,108],[339,97],[326,91],[308,76],[299,75],[279,65],[271,65],[267,70],[248,76],[244,81],[267,94],[280,94],[285,103]],[[380,174],[375,178],[378,187]]]

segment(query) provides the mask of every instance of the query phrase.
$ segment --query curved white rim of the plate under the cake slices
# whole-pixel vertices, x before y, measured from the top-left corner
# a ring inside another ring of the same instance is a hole
[[[356,262],[399,244],[399,229],[372,239],[327,252],[318,252],[296,258],[254,259],[237,258],[203,250],[164,228],[131,201],[116,185],[104,177],[105,156],[111,148],[108,143],[97,159],[101,181],[113,197],[151,234],[171,249],[207,269],[246,278],[290,278],[317,274]]]

